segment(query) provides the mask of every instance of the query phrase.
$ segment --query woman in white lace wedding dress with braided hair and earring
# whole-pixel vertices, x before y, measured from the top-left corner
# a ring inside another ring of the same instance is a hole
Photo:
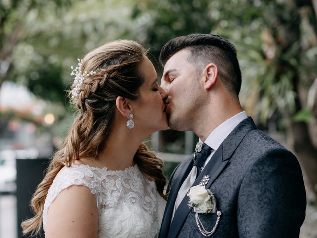
[[[142,141],[167,129],[167,93],[146,54],[118,40],[72,68],[78,114],[33,195],[24,234],[38,234],[43,222],[46,238],[158,237],[166,179]]]

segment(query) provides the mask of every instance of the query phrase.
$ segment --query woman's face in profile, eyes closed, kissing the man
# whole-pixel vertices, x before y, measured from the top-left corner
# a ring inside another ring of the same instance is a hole
[[[140,70],[144,83],[133,108],[135,127],[149,134],[165,130],[168,124],[163,100],[167,97],[167,92],[159,86],[155,68],[147,57],[141,61]]]

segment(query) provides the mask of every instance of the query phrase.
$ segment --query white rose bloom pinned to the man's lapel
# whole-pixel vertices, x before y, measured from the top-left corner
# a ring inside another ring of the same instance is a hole
[[[195,212],[209,213],[213,209],[213,192],[204,186],[197,185],[191,187],[187,193],[189,197],[188,206],[193,207]]]

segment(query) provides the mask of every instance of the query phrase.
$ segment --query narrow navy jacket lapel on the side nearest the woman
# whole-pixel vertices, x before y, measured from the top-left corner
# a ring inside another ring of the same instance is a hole
[[[181,164],[180,167],[176,170],[173,176],[174,178],[171,178],[173,179],[173,184],[172,184],[172,188],[170,190],[170,194],[169,194],[166,208],[164,211],[161,230],[159,234],[160,238],[166,238],[169,232],[170,222],[173,215],[174,204],[177,198],[178,191],[193,167],[192,157],[193,155],[191,155],[187,159],[187,161]]]

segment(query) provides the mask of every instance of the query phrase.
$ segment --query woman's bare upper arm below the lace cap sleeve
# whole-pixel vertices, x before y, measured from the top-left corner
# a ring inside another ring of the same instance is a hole
[[[48,209],[45,237],[98,237],[98,209],[88,187],[72,185],[58,194]]]

